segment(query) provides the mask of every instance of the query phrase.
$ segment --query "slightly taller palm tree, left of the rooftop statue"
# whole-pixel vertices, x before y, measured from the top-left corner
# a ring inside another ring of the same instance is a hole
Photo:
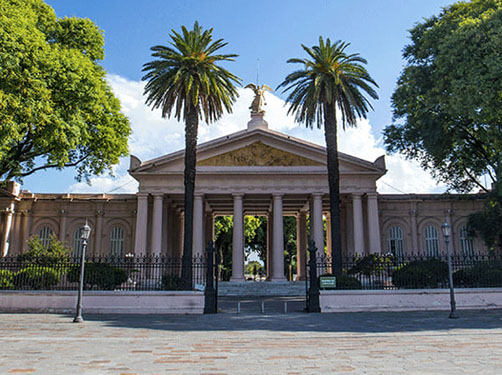
[[[143,65],[147,81],[146,104],[160,108],[162,117],[185,121],[185,233],[182,279],[187,288],[192,285],[192,232],[195,189],[195,165],[199,119],[207,123],[219,119],[223,111],[232,112],[238,96],[234,83],[240,79],[216,65],[234,61],[237,55],[216,54],[227,43],[213,41],[213,29],[203,30],[195,22],[192,30],[181,27],[182,33],[171,30],[170,46],[151,48],[155,60]]]

